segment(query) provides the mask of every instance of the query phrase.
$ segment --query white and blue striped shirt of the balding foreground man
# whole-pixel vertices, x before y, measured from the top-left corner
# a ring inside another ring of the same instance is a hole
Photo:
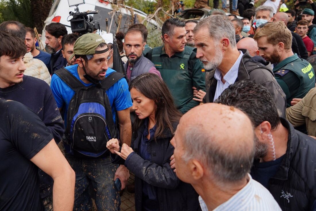
[[[264,186],[253,180],[248,174],[249,182],[228,201],[213,211],[281,211],[281,208]],[[202,197],[199,196],[202,211],[208,211]]]

